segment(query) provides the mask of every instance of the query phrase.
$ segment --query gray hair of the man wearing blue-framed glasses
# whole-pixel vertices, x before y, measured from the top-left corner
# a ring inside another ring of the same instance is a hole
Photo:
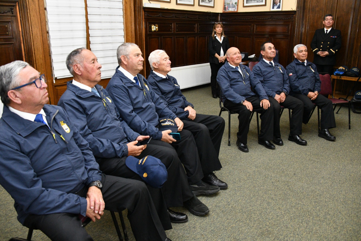
[[[21,60],[0,66],[0,97],[4,105],[9,105],[8,92],[20,85],[21,80],[18,75],[27,66],[30,66],[30,64]]]

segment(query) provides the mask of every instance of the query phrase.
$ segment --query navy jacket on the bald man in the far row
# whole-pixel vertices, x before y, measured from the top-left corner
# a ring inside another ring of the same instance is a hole
[[[252,71],[243,64],[240,64],[239,67],[243,74],[243,81],[240,79],[241,73],[238,69],[233,68],[229,63],[225,63],[219,69],[217,83],[221,87],[222,97],[225,97],[233,103],[242,104],[246,98],[257,96],[252,92],[253,89],[260,97],[260,100],[268,100],[268,96],[261,82],[253,75]],[[224,99],[222,101],[224,102]]]

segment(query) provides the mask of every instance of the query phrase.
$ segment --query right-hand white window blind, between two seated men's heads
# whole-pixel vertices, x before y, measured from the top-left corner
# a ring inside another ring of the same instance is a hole
[[[117,48],[124,43],[122,0],[87,0],[90,48],[102,65],[101,78],[118,66]]]

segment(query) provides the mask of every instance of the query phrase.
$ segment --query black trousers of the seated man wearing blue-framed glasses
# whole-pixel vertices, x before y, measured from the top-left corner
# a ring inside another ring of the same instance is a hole
[[[128,219],[137,241],[165,240],[166,234],[143,182],[104,174],[101,182],[105,209],[114,212],[128,209]],[[85,187],[78,195],[86,197],[87,191],[88,188]],[[24,225],[39,229],[55,241],[93,240],[81,227],[78,214],[30,214],[25,219]]]

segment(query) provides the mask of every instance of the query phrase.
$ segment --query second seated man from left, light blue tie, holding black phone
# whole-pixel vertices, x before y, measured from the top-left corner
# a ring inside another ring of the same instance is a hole
[[[97,84],[101,80],[101,65],[93,52],[78,48],[68,55],[66,64],[74,80],[68,82],[67,90],[61,96],[58,105],[65,109],[70,118],[76,120],[74,124],[88,141],[100,170],[107,175],[142,181],[125,165],[126,157],[136,156],[140,159],[148,155],[155,156],[164,163],[168,171],[168,180],[162,187],[167,207],[183,206],[183,202],[190,199],[194,199],[194,203],[197,202],[187,183],[181,161],[173,148],[152,144],[136,145],[138,141],[149,136],[141,136],[134,132],[120,118],[108,92]],[[152,195],[154,188],[149,188]],[[155,200],[158,199],[157,196],[152,197],[155,204],[159,202]],[[198,203],[207,208],[200,201]],[[191,208],[197,210],[197,206]],[[188,220],[184,213],[173,212],[170,209],[168,212],[173,223],[184,223]],[[160,214],[158,216],[161,217]]]

